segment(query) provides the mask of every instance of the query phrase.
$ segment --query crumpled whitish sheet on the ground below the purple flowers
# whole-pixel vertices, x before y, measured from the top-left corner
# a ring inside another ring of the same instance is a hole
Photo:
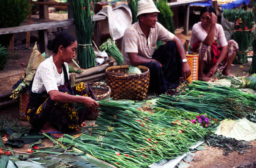
[[[256,139],[256,124],[246,118],[238,120],[225,119],[220,122],[215,134],[239,141],[253,141]]]

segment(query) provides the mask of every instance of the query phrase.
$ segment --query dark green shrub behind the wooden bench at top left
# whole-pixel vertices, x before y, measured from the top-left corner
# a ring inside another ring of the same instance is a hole
[[[0,28],[19,26],[30,12],[29,0],[0,0]],[[0,44],[7,47],[12,34],[0,35]]]

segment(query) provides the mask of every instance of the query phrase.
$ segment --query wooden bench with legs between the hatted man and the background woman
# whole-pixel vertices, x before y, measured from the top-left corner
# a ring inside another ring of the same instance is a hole
[[[179,7],[179,6],[185,6],[185,15],[184,15],[184,31],[183,34],[187,34],[188,32],[188,22],[189,22],[189,5],[193,3],[198,3],[198,2],[206,2],[207,0],[186,0],[183,2],[174,2],[177,0],[172,0],[172,2],[169,2],[168,5],[169,7]],[[177,9],[174,9],[174,15],[176,15],[176,19],[178,19],[178,11]],[[174,18],[174,19],[175,19]],[[175,23],[175,21],[174,21]]]

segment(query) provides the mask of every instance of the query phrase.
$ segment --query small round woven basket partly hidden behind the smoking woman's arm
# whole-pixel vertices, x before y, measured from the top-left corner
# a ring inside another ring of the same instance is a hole
[[[92,88],[96,98],[98,101],[104,100],[106,98],[110,98],[111,89],[106,84],[102,84],[99,82],[88,83],[88,86]]]

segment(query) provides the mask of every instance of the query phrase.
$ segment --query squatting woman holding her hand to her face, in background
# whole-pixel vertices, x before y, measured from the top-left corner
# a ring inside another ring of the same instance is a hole
[[[190,48],[199,54],[198,79],[208,81],[216,70],[230,76],[228,70],[238,50],[237,42],[227,42],[213,7],[203,7],[200,21],[193,25],[190,40]],[[217,46],[217,40],[220,46]]]

